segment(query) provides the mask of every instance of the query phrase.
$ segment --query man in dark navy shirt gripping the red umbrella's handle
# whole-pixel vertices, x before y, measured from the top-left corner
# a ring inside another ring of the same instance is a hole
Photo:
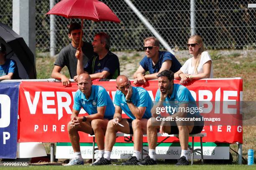
[[[77,75],[86,72],[90,74],[92,80],[116,79],[120,75],[120,64],[117,55],[110,52],[110,37],[105,32],[95,35],[93,42],[93,51],[97,55],[92,56],[86,65],[82,64],[83,57],[77,50]],[[80,57],[81,56],[81,57]]]

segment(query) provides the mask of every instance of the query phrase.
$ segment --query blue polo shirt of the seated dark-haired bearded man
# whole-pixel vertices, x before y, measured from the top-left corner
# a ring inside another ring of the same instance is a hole
[[[155,101],[159,102],[160,100],[160,90],[158,89],[156,92],[156,97]],[[195,102],[194,97],[191,95],[187,87],[179,84],[174,84],[173,90],[172,90],[172,95],[167,97],[164,100],[163,106],[171,106],[174,107],[174,112],[171,110],[171,112],[168,112],[170,115],[176,113],[178,111],[179,105],[183,103],[188,103],[188,107],[190,110],[194,109],[197,107],[197,104]],[[175,107],[177,109],[175,109]],[[192,108],[194,107],[194,108]],[[188,114],[187,117],[201,117],[199,112],[193,112],[193,114]]]

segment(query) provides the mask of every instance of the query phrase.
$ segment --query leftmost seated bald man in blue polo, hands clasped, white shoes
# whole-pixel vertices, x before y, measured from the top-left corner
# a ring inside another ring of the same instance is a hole
[[[77,85],[79,89],[74,96],[71,120],[68,123],[74,158],[69,161],[67,166],[84,164],[80,152],[78,131],[91,135],[95,133],[99,148],[98,157],[102,157],[104,154],[104,134],[108,120],[113,119],[115,112],[115,107],[108,92],[99,85],[92,85],[90,75],[86,73],[80,74],[77,77]],[[87,116],[78,116],[81,107],[88,113]]]

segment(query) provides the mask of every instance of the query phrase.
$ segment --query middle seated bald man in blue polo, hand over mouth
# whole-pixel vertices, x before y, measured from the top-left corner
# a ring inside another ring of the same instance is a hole
[[[108,122],[105,138],[104,156],[92,165],[108,165],[110,155],[115,144],[116,133],[122,132],[133,134],[133,155],[122,165],[136,165],[141,155],[143,134],[146,134],[146,124],[151,117],[151,106],[153,102],[148,92],[142,87],[132,87],[131,82],[124,75],[116,79],[117,92],[115,93],[115,114],[114,119]],[[122,111],[130,119],[122,118]]]

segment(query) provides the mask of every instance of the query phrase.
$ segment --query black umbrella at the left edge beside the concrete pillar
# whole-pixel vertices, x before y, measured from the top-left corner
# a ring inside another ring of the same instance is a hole
[[[20,37],[9,26],[0,22],[0,43],[6,47],[6,58],[16,61],[19,76],[22,79],[36,79],[36,66],[33,52],[23,37]]]

